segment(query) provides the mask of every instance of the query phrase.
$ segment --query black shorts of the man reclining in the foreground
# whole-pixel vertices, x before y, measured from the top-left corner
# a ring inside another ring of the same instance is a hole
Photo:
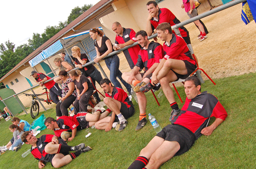
[[[196,136],[193,132],[181,125],[176,124],[167,125],[162,129],[162,131],[157,133],[156,136],[159,136],[169,142],[175,141],[179,143],[180,150],[175,154],[175,156],[187,152],[196,140]]]

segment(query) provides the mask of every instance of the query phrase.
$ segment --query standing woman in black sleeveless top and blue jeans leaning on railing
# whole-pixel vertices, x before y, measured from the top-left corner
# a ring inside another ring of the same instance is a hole
[[[104,35],[103,32],[100,31],[99,29],[94,27],[93,29],[90,29],[89,33],[90,33],[91,38],[93,40],[96,40],[94,42],[94,45],[95,45],[95,49],[97,52],[97,56],[94,59],[94,62],[97,63],[101,59],[103,59],[106,55],[108,55],[109,53],[114,51],[113,45],[112,45],[110,39],[106,36],[103,36]],[[119,62],[120,61],[119,61],[118,56],[115,54],[115,55],[112,55],[111,57],[105,58],[104,60],[105,60],[106,66],[110,70],[110,80],[112,81],[114,86],[122,89],[120,82],[116,79],[116,77],[118,77],[130,95],[132,87],[131,87],[131,85],[126,83],[121,77],[122,72],[119,70]]]

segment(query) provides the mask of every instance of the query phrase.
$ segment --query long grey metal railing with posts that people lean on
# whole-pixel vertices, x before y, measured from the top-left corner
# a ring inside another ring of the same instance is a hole
[[[207,12],[205,12],[205,13],[203,13],[203,14],[200,14],[200,15],[198,15],[198,16],[196,16],[196,17],[193,17],[193,18],[190,18],[190,19],[188,19],[188,20],[186,20],[186,21],[183,21],[183,22],[181,22],[181,23],[179,23],[179,24],[173,25],[173,26],[172,26],[172,29],[175,31],[176,35],[179,35],[179,36],[180,36],[179,27],[184,26],[184,25],[186,25],[186,24],[189,24],[189,23],[191,23],[191,22],[194,22],[194,21],[196,21],[196,20],[202,19],[202,18],[204,18],[204,17],[206,17],[206,16],[209,16],[209,15],[212,15],[212,14],[214,14],[214,13],[220,12],[220,11],[222,11],[222,10],[224,10],[224,9],[230,8],[230,7],[234,6],[234,5],[238,5],[238,4],[243,3],[243,2],[246,2],[246,0],[236,0],[236,1],[232,1],[232,2],[230,2],[230,3],[227,3],[227,4],[223,5],[223,6],[220,6],[220,7],[216,8],[216,9],[212,9],[212,10],[207,11]],[[154,35],[152,35],[152,36],[149,36],[148,39],[153,39],[153,38],[155,38],[155,37],[157,37],[157,34],[154,34]],[[122,49],[113,51],[113,52],[109,53],[108,55],[106,55],[103,59],[108,58],[108,57],[111,57],[112,55],[117,54],[117,53],[119,53],[119,52],[121,52],[121,51],[123,51],[123,50],[125,50],[125,49],[130,48],[130,47],[133,47],[133,46],[135,46],[135,45],[137,45],[137,44],[138,44],[138,42],[135,42],[135,43],[132,44],[132,45],[125,46],[125,47],[122,48]],[[192,49],[192,51],[193,51],[193,49]],[[89,62],[89,63],[87,63],[87,64],[82,65],[82,67],[86,67],[86,66],[91,65],[91,64],[94,64],[94,63],[95,63],[94,61],[91,61],[91,62]],[[101,65],[100,65],[99,63],[96,63],[96,64],[98,65],[98,67],[99,67],[100,71],[102,72],[102,74],[104,75],[104,77],[105,77],[105,78],[108,78],[108,76],[106,76],[104,70],[102,69]],[[77,69],[80,69],[80,68],[77,67],[77,68],[74,68],[73,70],[77,70]],[[56,77],[58,77],[58,76],[55,76],[55,77],[53,77],[53,78],[51,78],[51,79],[45,81],[44,83],[49,82],[49,81],[53,80],[53,79],[56,78]],[[31,87],[31,88],[29,88],[29,89],[27,89],[27,90],[31,90],[32,93],[35,94],[35,92],[34,92],[32,89],[35,88],[35,87],[38,87],[38,86],[39,86],[39,85],[35,85],[35,86],[33,86],[33,87]],[[26,111],[26,108],[24,107],[24,105],[23,105],[22,103],[20,103],[19,100],[16,98],[16,96],[17,96],[18,94],[21,94],[21,93],[23,93],[23,92],[25,92],[25,91],[27,91],[27,90],[24,90],[24,91],[22,91],[22,92],[19,92],[19,93],[13,95],[13,96],[8,97],[8,98],[5,98],[5,99],[2,100],[2,102],[5,104],[5,102],[4,102],[5,100],[7,100],[7,99],[9,99],[9,98],[11,98],[11,97],[15,97],[15,99],[17,100],[17,102],[19,103],[19,105],[23,108],[23,110],[24,110],[24,111],[26,112],[26,114],[27,114],[27,111]],[[44,110],[46,111],[46,108],[44,107],[44,105],[42,105],[41,101],[40,101],[38,98],[37,98],[37,100],[38,100],[38,102],[40,103],[40,105],[44,108]],[[5,106],[7,107],[6,104],[5,104]],[[8,107],[7,107],[7,108],[8,108]],[[12,112],[11,112],[11,114],[12,114]]]

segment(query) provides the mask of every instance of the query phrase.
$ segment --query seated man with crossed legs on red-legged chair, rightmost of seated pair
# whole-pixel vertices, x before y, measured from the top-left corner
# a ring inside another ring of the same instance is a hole
[[[193,59],[186,42],[172,33],[172,27],[169,23],[161,23],[157,26],[157,36],[165,41],[163,44],[164,57],[152,74],[152,80],[147,85],[140,88],[140,91],[150,91],[158,82],[160,82],[163,93],[170,103],[173,111],[170,114],[169,121],[180,113],[179,106],[174,98],[173,90],[169,83],[185,79],[196,70],[196,61]]]

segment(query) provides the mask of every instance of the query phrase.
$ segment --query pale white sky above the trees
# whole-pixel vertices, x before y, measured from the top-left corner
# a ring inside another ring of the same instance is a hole
[[[46,26],[66,21],[75,7],[97,4],[100,0],[2,1],[0,6],[0,43],[10,40],[15,47],[27,43],[33,33],[44,33]]]

